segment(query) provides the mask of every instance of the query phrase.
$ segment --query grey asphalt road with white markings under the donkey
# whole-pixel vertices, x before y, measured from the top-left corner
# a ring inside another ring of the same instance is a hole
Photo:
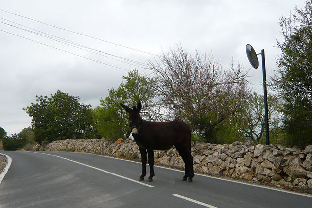
[[[100,155],[0,153],[12,158],[0,208],[312,208],[311,196],[200,175],[188,183],[160,167],[153,182],[139,182],[141,164]]]

